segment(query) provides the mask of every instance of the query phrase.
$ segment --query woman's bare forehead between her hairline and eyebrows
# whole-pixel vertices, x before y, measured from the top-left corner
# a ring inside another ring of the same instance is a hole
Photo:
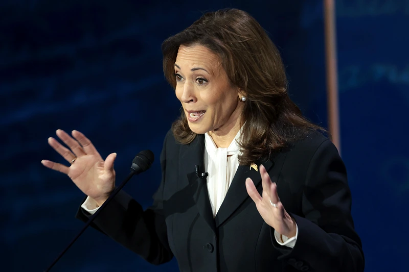
[[[220,58],[203,45],[180,45],[175,64],[181,69],[183,69],[183,66],[189,69],[193,68],[193,66],[217,69],[220,66]]]

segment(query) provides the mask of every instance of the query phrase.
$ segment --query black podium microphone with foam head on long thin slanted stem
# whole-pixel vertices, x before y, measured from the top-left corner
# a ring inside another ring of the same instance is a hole
[[[113,199],[113,197],[115,197],[115,195],[118,194],[118,192],[132,178],[132,176],[141,174],[142,172],[148,170],[149,167],[152,165],[154,159],[155,159],[155,156],[150,150],[141,151],[133,159],[132,165],[131,165],[131,172],[129,173],[129,175],[115,190],[112,191],[112,193],[109,195],[108,199],[104,202],[104,204],[102,204],[101,207],[99,207],[99,209],[91,217],[89,217],[85,226],[78,233],[78,235],[74,238],[74,240],[71,241],[71,243],[57,257],[57,259],[55,259],[54,262],[46,270],[44,270],[44,272],[50,271],[50,269],[58,262],[58,260],[61,259],[62,255],[64,255],[65,252],[71,248],[74,242],[81,236],[81,234],[86,230],[86,228],[88,228],[88,226],[94,221],[95,217],[97,217],[98,214],[101,212],[101,210],[103,210],[106,207],[106,205],[108,205],[108,203]]]

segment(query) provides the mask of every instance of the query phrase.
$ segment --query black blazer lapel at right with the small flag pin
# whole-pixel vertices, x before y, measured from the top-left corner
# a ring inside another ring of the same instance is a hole
[[[274,162],[270,159],[264,159],[257,161],[256,164],[258,169],[260,169],[260,164],[263,164],[268,172],[274,165]],[[216,228],[229,218],[229,216],[247,199],[247,197],[250,197],[245,186],[246,178],[251,178],[256,187],[261,183],[261,176],[258,170],[256,171],[249,165],[240,165],[233,178],[232,184],[226,193],[226,197],[214,218]]]

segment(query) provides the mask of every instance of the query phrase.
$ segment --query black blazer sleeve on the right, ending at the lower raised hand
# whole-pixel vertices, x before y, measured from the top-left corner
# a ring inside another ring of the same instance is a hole
[[[362,244],[354,231],[346,168],[330,140],[313,155],[302,196],[302,216],[290,214],[299,234],[293,249],[271,241],[283,253],[279,260],[302,271],[350,271],[364,268]]]

